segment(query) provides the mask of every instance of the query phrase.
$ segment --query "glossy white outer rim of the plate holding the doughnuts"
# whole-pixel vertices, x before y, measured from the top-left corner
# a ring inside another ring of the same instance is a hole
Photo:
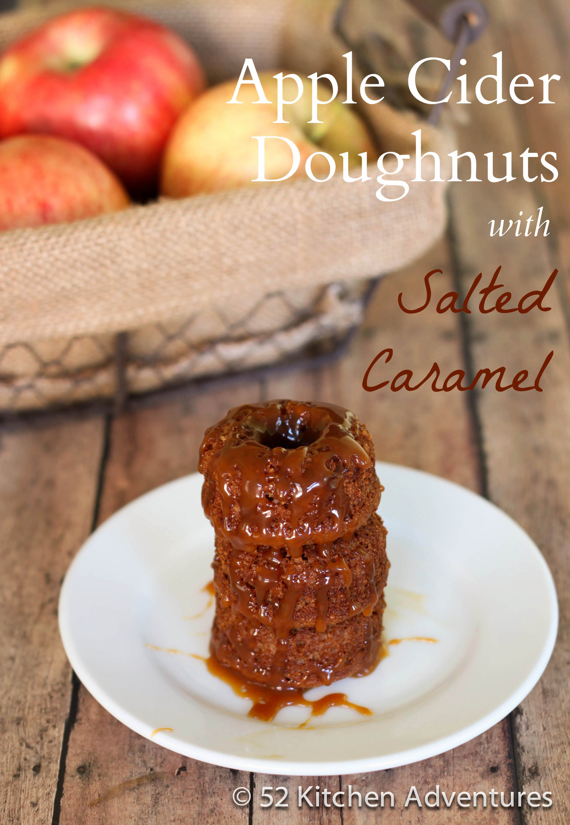
[[[542,648],[539,658],[535,662],[535,667],[532,668],[528,676],[526,676],[525,680],[516,689],[516,691],[513,691],[513,693],[508,696],[501,705],[498,705],[497,708],[493,709],[488,714],[483,715],[480,719],[467,725],[466,727],[455,731],[454,733],[448,733],[441,738],[432,739],[430,742],[425,742],[422,745],[407,748],[403,751],[393,752],[389,755],[364,757],[362,759],[352,760],[337,759],[332,761],[290,761],[275,758],[271,759],[267,757],[238,756],[226,752],[215,751],[213,749],[188,742],[187,740],[181,740],[175,735],[172,735],[172,733],[158,733],[151,738],[148,724],[138,719],[134,716],[134,714],[131,714],[128,709],[123,707],[123,705],[120,705],[120,703],[109,695],[104,688],[99,686],[97,683],[97,677],[93,676],[89,668],[84,665],[81,653],[76,648],[73,641],[73,634],[70,629],[67,595],[68,590],[71,587],[69,582],[73,581],[73,569],[78,563],[78,559],[82,554],[83,549],[85,549],[88,544],[92,543],[93,536],[97,534],[98,530],[100,530],[102,526],[109,525],[111,521],[115,521],[115,519],[120,518],[120,516],[130,507],[139,505],[144,498],[152,496],[153,493],[156,493],[158,490],[163,490],[164,488],[184,483],[187,479],[198,475],[197,473],[186,474],[178,479],[172,479],[167,483],[158,485],[158,487],[148,490],[146,493],[134,498],[124,507],[120,507],[120,509],[111,514],[109,518],[101,522],[101,525],[97,526],[96,530],[93,530],[93,532],[83,542],[80,549],[78,549],[78,552],[74,555],[72,562],[69,564],[59,593],[59,633],[61,635],[64,651],[68,657],[68,661],[73,667],[73,671],[82,682],[82,685],[87,688],[87,691],[89,691],[93,698],[97,700],[97,702],[99,702],[99,704],[111,715],[113,715],[115,719],[118,719],[122,724],[125,724],[131,730],[134,730],[135,733],[139,733],[139,735],[144,736],[144,738],[147,738],[162,747],[166,747],[167,750],[224,768],[232,768],[234,770],[237,769],[238,771],[253,771],[255,773],[269,775],[343,775],[362,774],[370,771],[385,770],[388,768],[412,764],[426,758],[435,757],[440,753],[449,751],[454,747],[464,744],[465,742],[469,742],[479,734],[484,733],[489,728],[492,728],[493,725],[497,724],[504,719],[507,714],[511,713],[511,711],[515,709],[516,706],[519,705],[519,703],[525,698],[525,696],[532,691],[539,681],[540,676],[544,673],[554,650],[554,645],[558,635],[558,596],[554,584],[554,577],[550,571],[549,565],[546,562],[546,559],[544,559],[544,555],[540,552],[540,549],[535,541],[511,516],[508,515],[508,513],[504,512],[501,507],[497,507],[494,502],[491,502],[480,494],[473,492],[473,490],[470,490],[461,484],[450,481],[450,479],[445,479],[435,474],[428,473],[426,470],[416,469],[404,464],[377,461],[376,467],[379,469],[380,474],[383,468],[389,468],[396,470],[397,472],[403,472],[404,474],[420,474],[426,479],[426,481],[432,482],[435,480],[437,483],[449,485],[451,488],[459,488],[461,493],[466,493],[468,494],[468,497],[479,499],[488,507],[492,507],[493,510],[499,513],[502,518],[510,522],[511,526],[514,526],[517,531],[520,531],[529,540],[529,549],[532,549],[535,554],[535,558],[538,560],[541,568],[543,569],[544,582],[547,586],[549,598],[549,629],[544,641],[544,647]]]

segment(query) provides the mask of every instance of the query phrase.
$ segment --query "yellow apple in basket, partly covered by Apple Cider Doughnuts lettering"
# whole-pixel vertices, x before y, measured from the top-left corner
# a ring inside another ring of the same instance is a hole
[[[299,149],[299,166],[291,177],[306,177],[305,163],[309,155],[319,150],[333,157],[348,153],[350,165],[359,165],[358,154],[375,152],[364,122],[340,100],[318,107],[318,118],[311,120],[311,83],[303,78],[304,92],[299,101],[284,106],[283,120],[275,123],[277,110],[276,71],[259,73],[261,87],[271,103],[259,103],[256,87],[243,84],[236,104],[230,104],[238,79],[211,87],[187,106],[167,142],[163,158],[161,191],[171,197],[186,197],[200,192],[233,189],[252,184],[258,177],[258,145],[256,135],[290,140]],[[283,78],[283,97],[294,100],[297,84]],[[327,100],[330,90],[319,92]],[[240,105],[241,104],[241,105]],[[267,139],[265,177],[277,180],[285,177],[293,166],[290,144],[283,139]],[[311,163],[315,177],[324,179],[330,172],[327,158],[316,155]]]

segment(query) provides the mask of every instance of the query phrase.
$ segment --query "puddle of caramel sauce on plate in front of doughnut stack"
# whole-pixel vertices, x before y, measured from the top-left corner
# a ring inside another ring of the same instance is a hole
[[[275,719],[280,709],[290,707],[290,705],[303,705],[310,708],[311,716],[323,716],[332,707],[352,708],[364,716],[372,715],[369,708],[349,702],[345,693],[329,693],[321,699],[309,701],[305,699],[303,691],[299,687],[279,690],[275,687],[259,685],[257,682],[249,681],[241,673],[233,670],[232,667],[219,662],[214,653],[206,659],[206,667],[213,676],[217,676],[229,685],[238,696],[252,700],[252,708],[247,714],[252,719],[271,722],[271,719]],[[309,719],[299,725],[299,728],[304,728]]]

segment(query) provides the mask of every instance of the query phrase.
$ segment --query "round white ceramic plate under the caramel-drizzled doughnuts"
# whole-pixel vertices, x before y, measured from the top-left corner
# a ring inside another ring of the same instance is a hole
[[[271,774],[360,773],[449,750],[502,719],[535,686],[554,648],[549,568],[521,527],[435,476],[378,464],[379,512],[392,567],[385,636],[404,641],[341,691],[374,711],[331,708],[300,728],[304,707],[271,722],[211,676],[214,533],[198,474],[124,507],[83,545],[65,577],[59,627],[87,690],[121,722],[188,757]],[[152,646],[152,647],[150,647]],[[167,648],[167,649],[155,649]],[[167,652],[177,650],[182,653]]]

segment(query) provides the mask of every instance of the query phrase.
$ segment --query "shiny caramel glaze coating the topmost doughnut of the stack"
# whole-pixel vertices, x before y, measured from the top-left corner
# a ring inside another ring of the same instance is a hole
[[[343,471],[371,465],[351,435],[353,413],[312,403],[288,412],[284,404],[269,403],[236,408],[228,418],[236,426],[205,473],[202,499],[211,520],[219,492],[223,520],[217,527],[224,538],[238,549],[286,547],[297,559],[304,544],[330,544],[350,534]],[[238,494],[231,483],[236,470]]]

